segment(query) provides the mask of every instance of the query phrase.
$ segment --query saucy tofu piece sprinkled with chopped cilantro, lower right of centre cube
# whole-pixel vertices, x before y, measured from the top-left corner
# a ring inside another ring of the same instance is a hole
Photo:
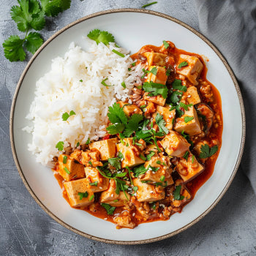
[[[145,163],[146,173],[140,176],[140,181],[148,181],[148,184],[162,183],[164,186],[173,184],[170,167],[170,158],[165,156],[151,157]],[[156,169],[157,168],[157,169]],[[164,177],[164,179],[162,179]]]

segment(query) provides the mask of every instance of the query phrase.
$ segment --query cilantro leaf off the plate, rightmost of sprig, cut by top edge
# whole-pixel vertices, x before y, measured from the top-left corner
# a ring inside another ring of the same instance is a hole
[[[48,17],[55,17],[60,12],[69,9],[71,0],[41,0],[42,10]]]

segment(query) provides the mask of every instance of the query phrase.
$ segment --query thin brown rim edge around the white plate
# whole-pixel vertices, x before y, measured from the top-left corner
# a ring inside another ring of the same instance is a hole
[[[149,238],[149,239],[139,240],[139,241],[116,241],[116,240],[109,240],[109,239],[105,239],[105,238],[99,238],[97,236],[91,236],[89,234],[83,233],[80,230],[77,230],[74,227],[71,227],[70,225],[67,225],[67,223],[63,222],[61,219],[56,217],[56,215],[54,215],[48,208],[46,208],[43,205],[43,203],[39,200],[37,195],[34,194],[34,192],[32,191],[31,187],[29,186],[29,183],[26,181],[25,176],[23,176],[23,172],[22,172],[22,170],[20,168],[20,165],[19,165],[19,162],[18,162],[18,158],[17,158],[17,155],[16,155],[15,146],[14,146],[14,139],[13,139],[13,127],[12,127],[13,126],[13,115],[14,115],[14,109],[15,109],[15,102],[16,102],[16,99],[17,99],[17,96],[18,96],[18,91],[20,89],[21,83],[23,82],[23,78],[26,75],[26,72],[29,70],[29,67],[33,63],[34,59],[36,59],[36,57],[39,55],[41,50],[43,48],[45,48],[45,46],[48,45],[49,42],[51,42],[53,39],[55,39],[55,37],[59,36],[59,34],[61,34],[63,31],[66,31],[67,29],[69,29],[69,27],[72,27],[75,24],[82,22],[83,20],[88,20],[90,18],[94,18],[94,17],[99,16],[99,15],[110,14],[110,13],[113,13],[113,12],[142,12],[142,13],[146,13],[146,14],[150,14],[150,15],[156,15],[156,16],[159,16],[159,17],[162,17],[162,18],[166,18],[167,20],[171,20],[171,21],[173,21],[175,23],[178,23],[181,26],[184,26],[186,29],[189,29],[194,34],[196,34],[197,37],[200,37],[200,39],[203,39],[203,41],[206,42],[214,50],[215,53],[217,53],[217,56],[219,56],[219,59],[221,59],[222,63],[225,65],[227,71],[229,72],[230,77],[232,78],[234,86],[236,88],[236,92],[238,94],[238,99],[239,99],[240,108],[241,108],[242,138],[241,138],[241,145],[240,145],[240,149],[239,149],[238,159],[236,160],[235,168],[234,168],[233,173],[231,174],[229,180],[227,181],[227,184],[226,184],[225,188],[219,194],[219,196],[214,201],[214,203],[212,203],[211,206],[208,207],[208,209],[203,212],[203,214],[201,214],[199,217],[197,217],[196,219],[194,219],[192,222],[190,222],[189,224],[185,225],[184,227],[181,227],[180,229],[178,229],[176,231],[173,231],[172,233],[168,233],[168,234],[166,234],[164,236],[159,236],[157,238]],[[233,178],[236,176],[236,172],[237,172],[238,167],[239,167],[240,162],[241,162],[241,157],[242,157],[242,154],[243,154],[243,151],[244,151],[244,142],[245,142],[245,125],[246,125],[246,122],[245,122],[244,102],[243,102],[243,98],[241,96],[241,91],[239,89],[236,77],[235,77],[231,67],[229,66],[229,64],[227,64],[227,61],[222,56],[222,53],[220,53],[219,50],[205,36],[203,36],[203,34],[200,34],[200,32],[196,31],[191,26],[187,25],[186,23],[182,22],[181,20],[173,18],[170,15],[165,15],[165,14],[163,14],[161,12],[155,12],[155,11],[151,11],[151,10],[134,9],[134,8],[122,8],[122,9],[105,10],[105,11],[102,11],[102,12],[95,12],[95,13],[93,13],[91,15],[87,15],[87,16],[85,16],[83,18],[75,20],[72,23],[69,23],[67,26],[64,26],[63,29],[61,29],[61,30],[57,31],[55,34],[53,34],[53,36],[51,36],[47,41],[45,41],[45,43],[37,50],[37,52],[34,54],[34,56],[32,56],[32,58],[29,61],[29,63],[26,65],[26,68],[24,69],[22,75],[20,76],[20,80],[18,81],[18,85],[17,85],[17,88],[15,90],[14,97],[12,99],[12,108],[11,108],[11,111],[10,111],[10,140],[11,140],[12,155],[13,155],[13,158],[15,160],[15,165],[18,168],[18,172],[20,174],[20,177],[22,178],[23,183],[26,186],[26,189],[29,190],[29,193],[34,198],[34,200],[37,202],[37,204],[48,215],[50,215],[50,217],[52,217],[56,222],[59,222],[59,224],[61,224],[62,226],[66,227],[68,230],[72,230],[74,233],[76,233],[76,234],[78,234],[80,236],[84,236],[86,238],[90,238],[90,239],[93,239],[95,241],[101,241],[101,242],[105,242],[105,243],[108,243],[108,244],[148,244],[148,243],[152,243],[152,242],[155,242],[155,241],[160,241],[160,240],[165,239],[165,238],[170,238],[171,236],[175,236],[176,234],[181,233],[184,230],[187,230],[188,227],[191,227],[196,222],[198,222],[200,219],[203,219],[203,217],[205,217],[206,214],[208,214],[217,205],[219,200],[222,199],[222,197],[225,194],[225,192],[227,191],[228,187],[230,187],[230,184],[233,181]]]

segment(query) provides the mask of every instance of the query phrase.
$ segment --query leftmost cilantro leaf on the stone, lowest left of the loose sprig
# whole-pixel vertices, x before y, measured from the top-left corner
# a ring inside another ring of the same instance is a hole
[[[10,61],[23,61],[26,57],[23,42],[18,36],[10,36],[3,42],[4,56]]]

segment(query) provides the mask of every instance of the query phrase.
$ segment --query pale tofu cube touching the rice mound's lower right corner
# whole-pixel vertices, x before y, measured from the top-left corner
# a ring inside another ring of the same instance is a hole
[[[89,147],[91,150],[96,148],[100,153],[100,158],[102,161],[105,161],[116,156],[116,143],[118,143],[117,138],[99,140],[90,143]]]

